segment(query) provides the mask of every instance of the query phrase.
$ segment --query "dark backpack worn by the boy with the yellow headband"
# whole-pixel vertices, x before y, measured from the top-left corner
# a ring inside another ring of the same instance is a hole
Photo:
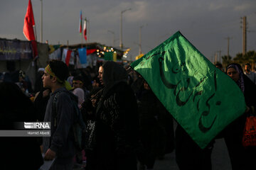
[[[83,140],[85,138],[85,123],[82,120],[82,114],[80,112],[80,109],[78,108],[78,97],[75,96],[70,91],[58,91],[53,98],[54,127],[57,126],[57,117],[58,117],[57,111],[56,111],[56,103],[57,103],[58,96],[62,92],[65,92],[70,96],[72,104],[73,104],[73,109],[74,109],[74,113],[75,113],[75,120],[74,120],[73,127],[72,127],[73,135],[74,135],[74,139],[75,139],[75,148],[78,151],[80,151],[85,147],[84,146],[85,142]]]

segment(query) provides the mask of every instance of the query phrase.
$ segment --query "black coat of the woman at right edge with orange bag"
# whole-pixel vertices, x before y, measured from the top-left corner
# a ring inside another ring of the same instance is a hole
[[[245,85],[245,103],[248,107],[255,107],[256,106],[256,85],[243,74],[244,85]],[[249,112],[250,113],[250,112]],[[256,157],[254,156],[255,153],[252,155],[250,154],[250,150],[255,148],[247,148],[242,146],[242,135],[245,128],[245,121],[247,115],[249,113],[242,114],[239,118],[230,123],[230,125],[225,128],[224,132],[224,139],[225,144],[228,147],[228,153],[230,156],[230,162],[234,169],[253,169],[252,166],[255,165],[251,164],[256,162]]]

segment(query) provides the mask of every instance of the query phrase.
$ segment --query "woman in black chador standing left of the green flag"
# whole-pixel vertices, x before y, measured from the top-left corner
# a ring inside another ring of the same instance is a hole
[[[95,164],[90,169],[137,169],[139,118],[134,92],[127,84],[127,72],[116,62],[99,69],[104,85],[96,107]],[[88,164],[90,156],[88,155]]]

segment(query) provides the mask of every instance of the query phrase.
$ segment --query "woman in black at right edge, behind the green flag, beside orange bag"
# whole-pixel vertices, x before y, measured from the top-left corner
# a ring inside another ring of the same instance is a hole
[[[247,110],[239,118],[225,128],[224,139],[228,147],[228,154],[232,169],[256,169],[255,147],[242,146],[242,134],[245,128],[245,120],[248,114],[255,114],[256,85],[242,72],[240,64],[229,64],[228,76],[238,84],[245,96]]]

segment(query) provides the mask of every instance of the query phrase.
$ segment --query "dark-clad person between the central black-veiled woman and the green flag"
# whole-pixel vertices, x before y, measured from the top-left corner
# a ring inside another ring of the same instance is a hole
[[[149,84],[144,81],[144,90],[138,103],[139,136],[146,151],[146,169],[153,169],[156,157],[164,155],[166,149],[166,130],[159,121],[161,117],[160,101]],[[143,164],[141,164],[143,169]]]

